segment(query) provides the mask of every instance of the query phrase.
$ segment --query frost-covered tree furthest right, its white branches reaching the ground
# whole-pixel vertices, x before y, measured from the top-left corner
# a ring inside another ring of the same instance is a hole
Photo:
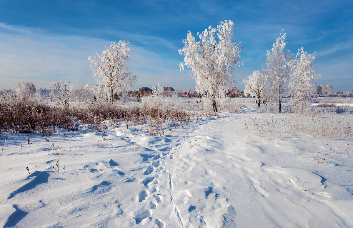
[[[302,112],[310,101],[310,97],[316,94],[317,86],[312,82],[320,78],[321,75],[315,74],[315,65],[313,64],[315,55],[316,52],[308,54],[301,47],[298,49],[296,58],[288,62],[288,66],[292,68],[288,80],[288,92],[291,96],[294,113]]]

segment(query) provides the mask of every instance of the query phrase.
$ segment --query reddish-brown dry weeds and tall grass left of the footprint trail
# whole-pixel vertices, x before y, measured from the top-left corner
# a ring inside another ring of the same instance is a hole
[[[57,127],[78,130],[77,121],[91,125],[92,131],[104,132],[107,126],[103,121],[111,120],[116,127],[121,123],[125,123],[126,128],[145,125],[151,135],[162,135],[164,128],[172,131],[172,128],[188,123],[194,115],[188,109],[163,103],[163,97],[156,95],[144,103],[87,102],[64,109],[36,97],[3,94],[0,96],[0,133],[30,129],[32,133],[51,135]]]

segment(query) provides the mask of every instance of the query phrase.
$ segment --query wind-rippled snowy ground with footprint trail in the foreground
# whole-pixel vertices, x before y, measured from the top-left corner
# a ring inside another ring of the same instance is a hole
[[[29,134],[29,145],[9,135],[0,227],[353,227],[352,142],[269,141],[240,124],[256,112],[162,137],[131,126]]]

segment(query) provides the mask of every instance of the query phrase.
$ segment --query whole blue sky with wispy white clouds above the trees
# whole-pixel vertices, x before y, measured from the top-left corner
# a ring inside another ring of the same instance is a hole
[[[36,88],[70,80],[95,83],[88,55],[122,40],[132,49],[135,89],[161,86],[193,89],[188,70],[180,73],[178,53],[194,35],[221,20],[234,22],[234,38],[244,45],[236,72],[241,80],[265,64],[284,29],[287,48],[316,51],[319,84],[353,90],[353,2],[349,1],[1,1],[0,90],[32,81]]]

